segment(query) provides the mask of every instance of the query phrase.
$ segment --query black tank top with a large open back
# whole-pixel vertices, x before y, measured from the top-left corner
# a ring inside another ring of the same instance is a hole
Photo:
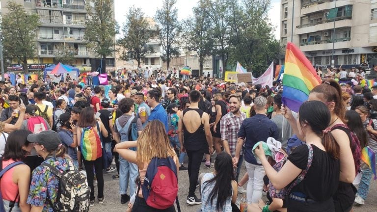
[[[200,118],[202,118],[202,115],[204,113],[203,110],[198,109],[198,108],[186,108],[183,111],[182,123],[184,123],[183,120],[185,118],[186,112],[191,111],[191,110],[195,110],[197,113],[199,113]],[[185,147],[185,149],[190,150],[190,151],[208,149],[208,143],[207,143],[206,133],[204,132],[203,123],[201,123],[198,129],[193,133],[188,132],[188,130],[185,127],[185,124],[183,124],[183,135],[184,135],[184,140],[185,140],[185,142],[183,143],[183,146]]]

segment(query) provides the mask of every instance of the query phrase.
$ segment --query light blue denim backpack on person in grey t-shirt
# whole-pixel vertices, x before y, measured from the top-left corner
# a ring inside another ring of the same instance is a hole
[[[120,135],[120,141],[133,141],[137,140],[138,138],[138,132],[137,132],[137,117],[135,118],[130,117],[122,128],[119,124],[119,120],[115,120],[116,128],[118,129],[119,135]],[[127,129],[127,131],[126,131]],[[130,150],[136,151],[136,147],[130,148]]]

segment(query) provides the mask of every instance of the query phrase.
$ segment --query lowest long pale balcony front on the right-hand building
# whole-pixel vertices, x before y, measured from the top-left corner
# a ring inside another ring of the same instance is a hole
[[[302,52],[309,51],[320,51],[332,49],[332,44],[334,41],[334,49],[345,49],[350,48],[350,38],[337,38],[335,40],[319,40],[300,43],[300,50]]]

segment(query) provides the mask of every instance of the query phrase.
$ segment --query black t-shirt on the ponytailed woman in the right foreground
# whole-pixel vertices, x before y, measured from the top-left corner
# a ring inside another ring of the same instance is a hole
[[[338,188],[340,162],[317,146],[312,145],[312,147],[312,165],[304,180],[296,185],[292,191],[300,191],[309,199],[325,201],[331,198]],[[298,168],[305,170],[308,164],[308,155],[308,147],[300,145],[291,153],[288,159]]]

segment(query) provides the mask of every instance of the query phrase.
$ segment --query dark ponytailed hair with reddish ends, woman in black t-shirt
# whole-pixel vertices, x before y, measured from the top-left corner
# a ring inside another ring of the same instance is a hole
[[[312,131],[322,137],[322,144],[332,158],[339,159],[339,145],[331,132],[323,133],[331,120],[331,114],[327,106],[321,101],[304,102],[298,112],[301,127],[308,124]]]

